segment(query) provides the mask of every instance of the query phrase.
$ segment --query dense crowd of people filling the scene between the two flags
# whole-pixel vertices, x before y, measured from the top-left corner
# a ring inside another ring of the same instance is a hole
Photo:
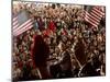
[[[26,10],[34,21],[33,28],[13,37],[13,80],[41,79],[31,56],[35,35],[42,35],[50,47],[46,63],[52,79],[105,75],[105,17],[92,27],[81,17],[84,5],[40,4],[13,4],[13,15]]]

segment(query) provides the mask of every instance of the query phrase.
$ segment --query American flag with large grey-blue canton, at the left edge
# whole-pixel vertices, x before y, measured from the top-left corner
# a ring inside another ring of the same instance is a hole
[[[13,17],[12,22],[14,36],[19,36],[20,34],[33,27],[33,22],[29,17],[26,11],[20,12],[16,16]]]

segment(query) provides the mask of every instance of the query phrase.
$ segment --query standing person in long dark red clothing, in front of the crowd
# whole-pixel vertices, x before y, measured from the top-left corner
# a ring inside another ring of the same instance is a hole
[[[50,79],[46,59],[50,55],[50,48],[41,35],[34,36],[34,43],[31,49],[32,59],[37,68],[40,79]]]

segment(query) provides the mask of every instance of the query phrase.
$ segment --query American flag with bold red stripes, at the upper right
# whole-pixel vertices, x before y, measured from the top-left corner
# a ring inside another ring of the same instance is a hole
[[[97,27],[102,16],[105,16],[103,7],[92,7],[91,11],[84,10],[82,17],[85,21]]]

